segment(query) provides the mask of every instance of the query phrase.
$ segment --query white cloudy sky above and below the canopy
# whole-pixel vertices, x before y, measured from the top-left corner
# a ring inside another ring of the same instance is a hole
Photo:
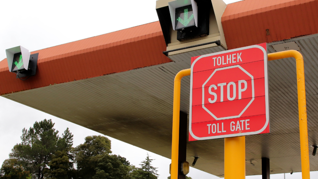
[[[236,1],[238,0],[226,0],[225,3]],[[21,45],[35,51],[157,21],[155,4],[156,0],[1,0],[0,60],[6,58],[5,49],[11,47]],[[99,134],[0,97],[0,163],[8,158],[11,148],[20,142],[23,128],[29,128],[35,121],[45,118],[52,119],[60,132],[69,127],[74,134],[74,146],[83,143],[88,135]],[[126,157],[131,164],[138,166],[147,155],[146,150],[110,139],[113,154]],[[166,179],[169,176],[170,160],[157,154],[149,154],[156,159],[153,165],[158,167],[159,179]],[[190,168],[188,176],[193,179],[218,178],[194,168]],[[318,172],[311,172],[311,176],[318,177]],[[260,179],[261,176],[246,178]],[[271,178],[283,179],[284,175],[271,175]],[[286,174],[286,179],[292,178],[301,178],[301,173]]]

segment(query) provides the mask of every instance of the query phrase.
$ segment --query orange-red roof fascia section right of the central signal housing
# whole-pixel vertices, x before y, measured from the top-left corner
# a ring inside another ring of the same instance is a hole
[[[227,5],[221,21],[228,49],[315,34],[318,0],[239,1]]]

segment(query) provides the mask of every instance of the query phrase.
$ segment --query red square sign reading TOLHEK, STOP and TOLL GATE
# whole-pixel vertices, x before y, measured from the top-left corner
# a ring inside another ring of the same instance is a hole
[[[266,43],[191,62],[190,141],[269,132]]]

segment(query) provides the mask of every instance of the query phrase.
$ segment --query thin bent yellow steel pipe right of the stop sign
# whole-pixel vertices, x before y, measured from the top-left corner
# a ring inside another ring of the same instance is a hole
[[[299,132],[300,132],[300,150],[301,150],[301,172],[302,172],[302,179],[309,179],[310,166],[309,166],[309,151],[308,151],[308,127],[307,127],[304,59],[301,53],[296,50],[287,50],[283,52],[268,54],[269,61],[282,59],[282,58],[288,58],[288,57],[294,57],[296,59]]]

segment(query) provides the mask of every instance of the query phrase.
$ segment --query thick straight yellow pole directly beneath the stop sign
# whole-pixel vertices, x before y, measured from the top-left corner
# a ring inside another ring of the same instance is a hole
[[[224,178],[245,179],[245,136],[224,139]]]

